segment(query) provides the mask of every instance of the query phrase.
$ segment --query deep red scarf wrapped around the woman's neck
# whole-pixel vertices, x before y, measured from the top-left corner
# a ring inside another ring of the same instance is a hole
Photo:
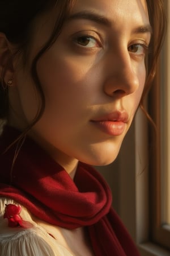
[[[111,191],[94,168],[79,163],[74,181],[34,141],[27,138],[12,170],[20,135],[5,127],[0,138],[0,195],[24,205],[36,217],[66,229],[87,226],[96,256],[139,256],[120,218],[111,208]]]

